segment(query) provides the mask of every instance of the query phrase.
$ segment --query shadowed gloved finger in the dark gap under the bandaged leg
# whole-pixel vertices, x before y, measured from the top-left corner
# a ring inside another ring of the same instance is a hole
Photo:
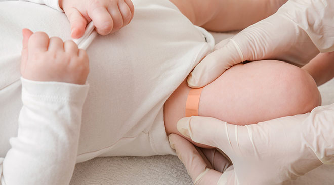
[[[217,149],[201,148],[200,150],[208,162],[210,162],[212,169],[218,172],[224,173],[224,171],[232,165],[232,163]]]

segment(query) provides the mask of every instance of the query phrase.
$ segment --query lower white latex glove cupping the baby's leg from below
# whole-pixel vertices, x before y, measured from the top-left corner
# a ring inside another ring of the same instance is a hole
[[[280,184],[322,164],[334,164],[333,122],[334,104],[248,126],[210,117],[181,119],[177,127],[185,137],[229,156],[233,168],[223,175],[205,171],[207,165],[198,162],[200,155],[189,150],[185,140],[170,140],[190,176],[198,178],[197,184]]]

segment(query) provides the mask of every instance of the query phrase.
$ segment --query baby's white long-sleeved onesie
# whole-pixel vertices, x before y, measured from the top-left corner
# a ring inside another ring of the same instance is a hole
[[[34,115],[25,112],[24,108],[20,113],[23,105],[21,95],[22,99],[31,100],[36,98],[31,95],[34,93],[41,96],[58,94],[63,100],[58,104],[56,101],[52,103],[61,112],[67,112],[58,115],[57,110],[54,110],[52,115],[44,115],[50,119],[49,125],[59,124],[61,127],[44,130],[41,126],[39,131],[46,133],[43,133],[45,139],[39,142],[44,145],[40,149],[50,146],[53,149],[51,152],[65,153],[69,149],[64,145],[68,143],[68,146],[74,148],[72,150],[77,151],[74,157],[73,152],[66,154],[69,157],[66,161],[68,164],[97,156],[174,154],[164,128],[164,102],[195,65],[213,49],[214,40],[204,29],[195,27],[168,0],[133,0],[133,3],[135,16],[129,25],[108,36],[96,36],[87,49],[90,58],[90,87],[82,107],[88,85],[20,81],[21,30],[29,28],[33,32],[44,31],[50,37],[58,36],[65,41],[70,39],[70,25],[66,16],[50,7],[31,2],[0,2],[0,165],[4,160],[0,167],[3,169],[3,183],[7,179],[13,180],[10,175],[11,170],[15,169],[6,166],[6,160],[9,161],[8,164],[10,160],[16,160],[15,152],[8,151],[11,144],[18,140],[18,130],[19,133],[25,133],[26,137],[34,138],[35,134],[31,131],[32,128],[24,127],[31,124],[28,121],[30,118],[33,120]],[[26,89],[23,94],[21,84]],[[50,103],[43,98],[35,101],[41,103],[40,107],[49,106]],[[65,109],[60,106],[63,104]],[[45,112],[43,108],[38,110],[38,106],[36,107],[37,112]],[[71,124],[71,121],[80,122],[80,108],[83,109],[81,128]],[[66,133],[70,133],[71,137],[67,137]],[[78,142],[75,142],[76,139]],[[16,144],[23,145],[18,142]],[[52,148],[55,146],[65,148]],[[31,149],[31,152],[34,150]],[[23,158],[18,161],[27,162]],[[48,169],[38,171],[40,176],[49,175],[48,179],[32,178],[29,179],[31,183],[64,184],[68,176],[64,176],[59,170],[73,171],[71,165],[59,168],[59,161],[53,154],[50,158],[36,157],[33,161],[28,157],[26,159],[30,160],[28,163],[35,171],[36,168],[43,167],[44,164],[40,161],[51,165]],[[19,171],[24,170],[30,169]],[[29,184],[24,179],[21,180]]]

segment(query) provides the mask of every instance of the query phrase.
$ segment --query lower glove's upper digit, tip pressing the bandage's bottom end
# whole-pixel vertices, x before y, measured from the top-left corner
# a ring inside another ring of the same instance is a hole
[[[230,146],[228,129],[237,127],[212,117],[184,117],[177,123],[178,131],[196,143],[226,149]]]

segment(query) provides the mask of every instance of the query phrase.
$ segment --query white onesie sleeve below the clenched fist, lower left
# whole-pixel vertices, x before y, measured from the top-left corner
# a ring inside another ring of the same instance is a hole
[[[89,85],[21,81],[18,135],[0,158],[2,185],[69,184]]]

